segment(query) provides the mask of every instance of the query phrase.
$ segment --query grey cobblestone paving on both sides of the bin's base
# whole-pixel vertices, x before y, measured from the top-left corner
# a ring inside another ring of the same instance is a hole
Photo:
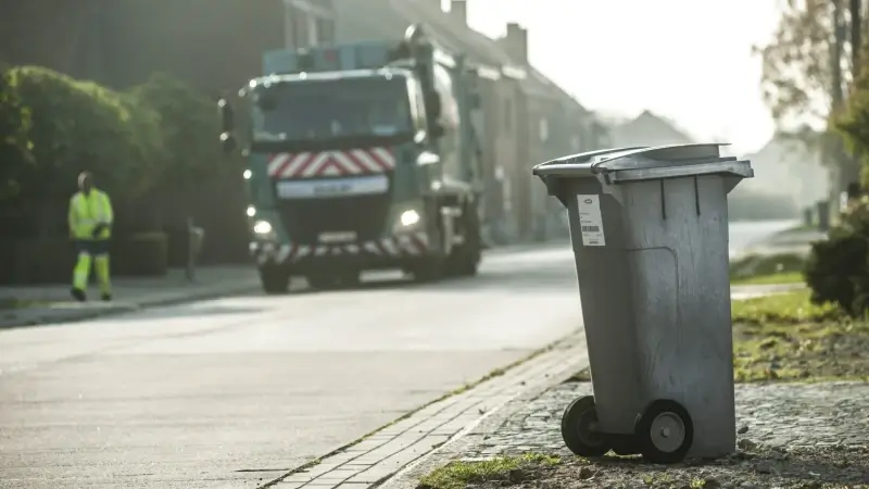
[[[527,403],[463,455],[477,459],[530,451],[569,455],[562,441],[562,412],[574,399],[590,393],[590,383],[562,384]],[[735,393],[743,444],[869,447],[869,384],[753,384],[736,386]]]

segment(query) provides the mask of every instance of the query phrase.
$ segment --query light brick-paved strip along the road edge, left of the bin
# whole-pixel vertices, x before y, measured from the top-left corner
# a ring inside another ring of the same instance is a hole
[[[501,409],[511,401],[532,390],[545,390],[553,380],[559,383],[568,378],[585,363],[584,331],[579,329],[503,375],[428,404],[360,442],[336,450],[316,464],[289,472],[260,488],[365,489],[379,486],[433,451],[461,441],[486,419],[499,416]]]

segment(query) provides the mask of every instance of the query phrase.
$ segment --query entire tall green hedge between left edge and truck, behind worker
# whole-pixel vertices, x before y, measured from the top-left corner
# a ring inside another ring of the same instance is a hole
[[[211,100],[166,75],[116,91],[42,67],[3,72],[2,239],[65,242],[68,199],[89,170],[112,197],[118,231],[171,230],[191,214],[211,238],[205,247],[216,249],[203,255],[243,259],[242,165],[221,152],[216,115]]]

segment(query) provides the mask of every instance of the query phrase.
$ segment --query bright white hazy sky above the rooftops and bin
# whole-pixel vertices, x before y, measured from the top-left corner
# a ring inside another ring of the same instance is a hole
[[[780,0],[467,1],[487,35],[527,27],[534,66],[589,109],[648,109],[740,152],[772,134],[752,46],[771,37]]]

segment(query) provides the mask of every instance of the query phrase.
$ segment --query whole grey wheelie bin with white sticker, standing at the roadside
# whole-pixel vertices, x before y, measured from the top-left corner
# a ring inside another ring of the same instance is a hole
[[[594,396],[564,413],[576,454],[653,463],[735,451],[727,195],[754,176],[721,145],[539,164],[568,211]]]

